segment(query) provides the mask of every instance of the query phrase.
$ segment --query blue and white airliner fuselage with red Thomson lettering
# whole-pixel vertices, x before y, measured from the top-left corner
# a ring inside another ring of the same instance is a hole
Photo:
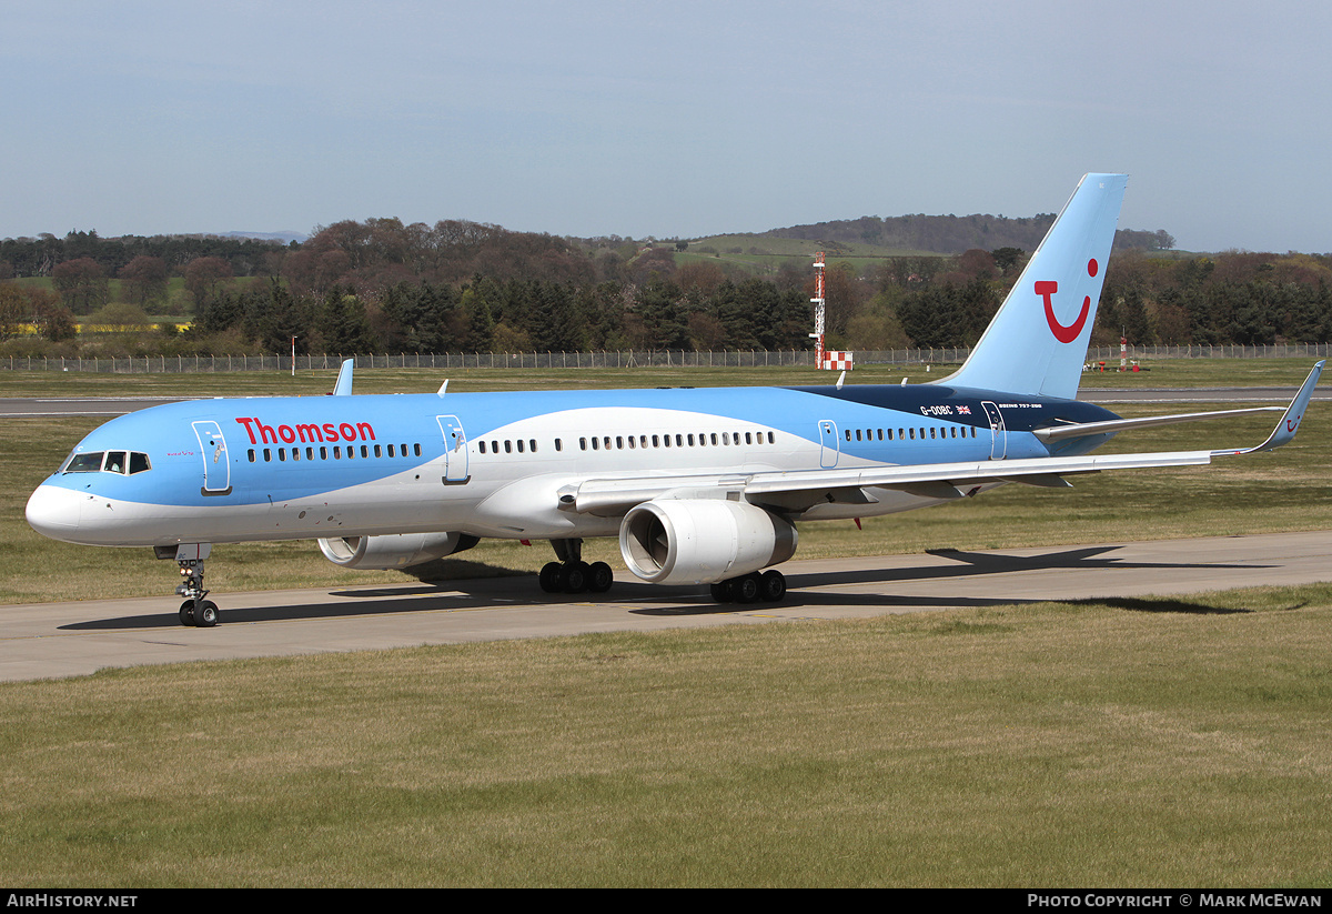
[[[562,488],[1071,456],[1106,436],[1060,449],[1031,429],[1104,418],[1114,416],[1072,400],[934,385],[200,400],[92,432],[28,513],[47,536],[120,546],[442,530],[614,536],[618,517],[567,510]],[[88,469],[92,458],[80,466],[80,454],[97,453],[101,469]],[[117,454],[125,466],[112,465]],[[129,466],[133,454],[147,461]],[[875,497],[789,516],[867,517],[938,501]]]

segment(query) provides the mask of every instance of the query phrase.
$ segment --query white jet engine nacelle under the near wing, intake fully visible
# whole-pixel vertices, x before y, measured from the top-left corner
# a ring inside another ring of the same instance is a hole
[[[795,526],[745,501],[662,498],[619,525],[619,554],[651,584],[717,584],[795,554]]]

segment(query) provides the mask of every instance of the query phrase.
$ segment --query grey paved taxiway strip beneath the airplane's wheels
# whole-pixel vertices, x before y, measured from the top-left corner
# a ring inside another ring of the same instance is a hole
[[[280,657],[587,632],[866,618],[1002,604],[1103,597],[1128,612],[1143,596],[1332,581],[1332,530],[1251,537],[938,552],[793,561],[777,605],[718,605],[706,588],[657,588],[618,572],[606,598],[550,597],[535,577],[340,590],[214,593],[214,629],[180,625],[178,600],[0,606],[0,680],[139,666]],[[169,586],[164,578],[164,589]],[[1167,610],[1208,612],[1187,601]]]

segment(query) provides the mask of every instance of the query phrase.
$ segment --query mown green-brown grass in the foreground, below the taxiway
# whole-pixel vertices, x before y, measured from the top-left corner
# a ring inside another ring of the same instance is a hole
[[[19,886],[1321,886],[1332,586],[0,685]]]

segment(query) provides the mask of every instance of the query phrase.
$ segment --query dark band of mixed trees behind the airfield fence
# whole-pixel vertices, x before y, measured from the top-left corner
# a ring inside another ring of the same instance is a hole
[[[21,246],[11,241],[0,254]],[[813,345],[813,268],[799,257],[754,276],[687,242],[563,238],[457,220],[342,221],[304,244],[217,238],[197,256],[188,245],[131,241],[112,254],[112,240],[71,233],[67,258],[43,261],[41,280],[13,266],[28,270],[31,250],[0,262],[9,276],[0,281],[0,337],[15,337],[0,344],[7,354],[288,352],[293,337],[301,353]],[[25,242],[55,250],[49,237]],[[827,345],[971,345],[1028,256],[1006,245],[830,258]],[[148,314],[170,313],[168,298],[192,318],[188,330],[177,333],[174,321],[153,329]],[[76,336],[79,318],[121,332]],[[20,334],[24,324],[39,336]],[[1094,342],[1122,333],[1135,345],[1328,341],[1332,258],[1118,252]]]

